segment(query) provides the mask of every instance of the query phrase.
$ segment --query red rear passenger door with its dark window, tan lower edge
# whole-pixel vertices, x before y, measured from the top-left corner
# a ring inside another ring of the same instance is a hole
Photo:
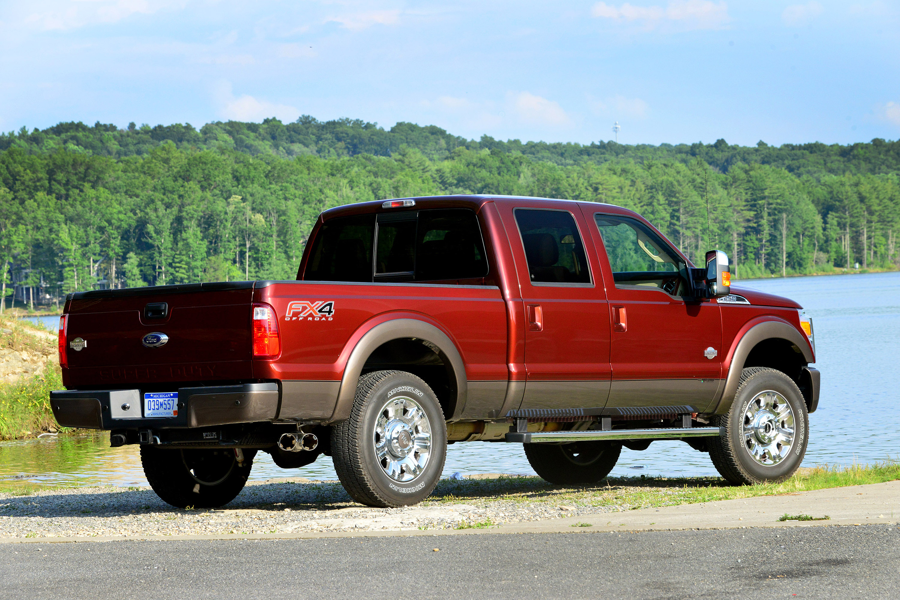
[[[586,221],[574,203],[539,201],[507,210],[504,221],[527,315],[521,408],[603,407],[609,319],[600,275],[592,275],[583,243]],[[596,264],[596,254],[590,257]]]

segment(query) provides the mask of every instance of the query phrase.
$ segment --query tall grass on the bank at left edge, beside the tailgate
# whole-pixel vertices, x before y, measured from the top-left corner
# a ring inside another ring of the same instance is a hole
[[[9,333],[6,333],[9,331]],[[43,372],[13,383],[0,383],[0,440],[34,437],[58,431],[49,405],[50,390],[62,389],[56,342],[46,329],[27,321],[0,318],[0,350],[48,357]]]

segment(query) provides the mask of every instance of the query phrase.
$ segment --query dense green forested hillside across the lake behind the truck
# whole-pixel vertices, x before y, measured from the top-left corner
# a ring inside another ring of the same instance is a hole
[[[60,123],[0,136],[2,292],[40,286],[35,300],[52,301],[96,287],[293,279],[321,210],[436,193],[612,202],[694,258],[725,249],[739,277],[890,267],[898,174],[900,142],[880,139],[654,147],[310,117],[200,130]]]

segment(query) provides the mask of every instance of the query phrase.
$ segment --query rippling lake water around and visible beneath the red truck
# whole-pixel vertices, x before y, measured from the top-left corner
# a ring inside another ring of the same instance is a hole
[[[822,372],[819,408],[810,415],[806,466],[897,458],[900,392],[894,378],[900,358],[900,273],[793,277],[738,282],[787,296],[815,323]],[[54,329],[58,318],[43,318]],[[455,443],[445,475],[527,473],[521,444]],[[644,452],[623,449],[614,475],[717,475],[706,453],[682,442],[654,442]],[[337,479],[328,457],[302,469],[283,470],[257,454],[250,479]],[[109,448],[108,435],[43,437],[0,443],[0,488],[110,483],[147,485],[137,446]]]

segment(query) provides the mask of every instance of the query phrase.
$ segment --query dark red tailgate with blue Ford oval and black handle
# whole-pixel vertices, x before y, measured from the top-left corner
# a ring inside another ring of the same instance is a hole
[[[114,382],[215,381],[252,376],[253,282],[193,283],[73,294],[67,303],[68,386]],[[166,316],[148,318],[148,304]],[[144,336],[165,334],[148,347]]]

